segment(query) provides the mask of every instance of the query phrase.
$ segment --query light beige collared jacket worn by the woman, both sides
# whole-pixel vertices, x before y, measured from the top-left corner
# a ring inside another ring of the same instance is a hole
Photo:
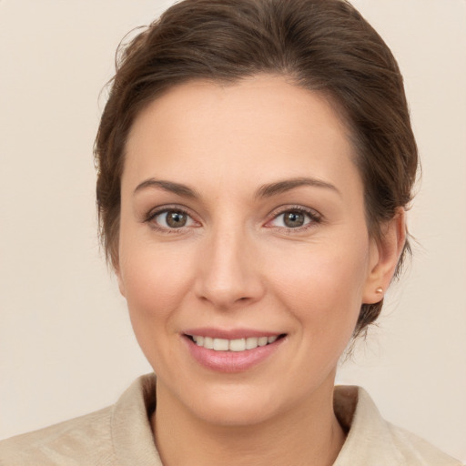
[[[383,420],[361,388],[337,387],[334,407],[349,429],[334,466],[461,466]],[[0,441],[0,465],[162,466],[149,423],[155,409],[151,374],[137,379],[112,407]]]

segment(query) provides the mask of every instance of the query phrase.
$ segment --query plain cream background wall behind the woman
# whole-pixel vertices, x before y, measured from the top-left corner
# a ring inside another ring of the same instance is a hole
[[[99,251],[92,146],[118,42],[170,3],[0,0],[0,438],[150,370]],[[466,461],[466,2],[353,3],[399,60],[423,178],[412,265],[338,381]]]

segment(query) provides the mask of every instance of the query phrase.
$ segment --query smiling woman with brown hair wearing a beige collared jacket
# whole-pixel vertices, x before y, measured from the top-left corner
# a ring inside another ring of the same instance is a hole
[[[347,3],[187,0],[127,47],[97,205],[147,376],[5,464],[459,464],[334,388],[409,251],[398,66]]]

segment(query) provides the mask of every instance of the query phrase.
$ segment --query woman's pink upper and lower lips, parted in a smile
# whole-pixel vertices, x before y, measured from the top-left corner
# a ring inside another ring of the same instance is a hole
[[[215,349],[206,349],[198,346],[188,336],[196,335],[202,337],[210,337],[217,339],[244,339],[250,337],[272,337],[277,335],[274,332],[264,332],[251,329],[187,329],[184,340],[187,344],[187,349],[191,356],[198,363],[208,370],[218,372],[235,373],[249,370],[262,361],[267,360],[269,356],[275,353],[284,339],[277,339],[273,343],[266,346],[258,346],[255,349],[247,349],[244,351],[217,351]]]

